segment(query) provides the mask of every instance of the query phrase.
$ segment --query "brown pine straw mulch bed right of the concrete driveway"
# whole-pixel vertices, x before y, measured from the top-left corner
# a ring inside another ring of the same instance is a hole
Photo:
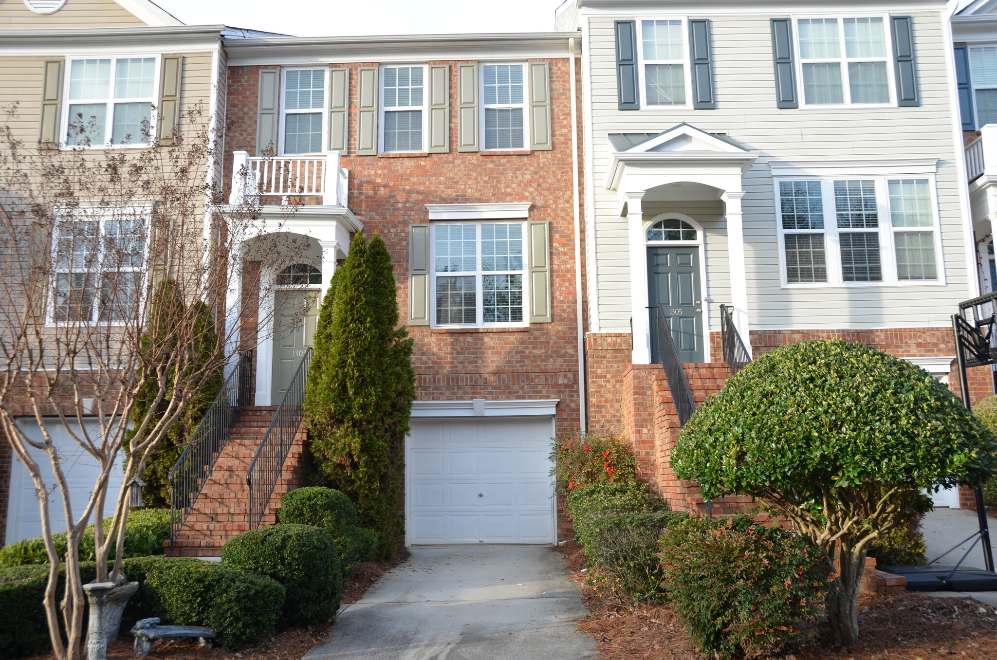
[[[705,660],[689,642],[682,622],[667,605],[629,607],[585,586],[585,555],[576,542],[558,546],[581,589],[589,614],[578,630],[594,637],[602,660]],[[833,649],[826,640],[794,649],[785,660],[966,660],[997,658],[997,608],[969,598],[936,598],[919,593],[863,597],[859,601],[859,640],[851,649]],[[825,631],[827,632],[827,631]]]

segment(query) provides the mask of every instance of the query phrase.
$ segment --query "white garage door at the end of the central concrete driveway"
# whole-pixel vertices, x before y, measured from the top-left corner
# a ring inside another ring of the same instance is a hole
[[[412,420],[410,543],[551,543],[551,418]]]

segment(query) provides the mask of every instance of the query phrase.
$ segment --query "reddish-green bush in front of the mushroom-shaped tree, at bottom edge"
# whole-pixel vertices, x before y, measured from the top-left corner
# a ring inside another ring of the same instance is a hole
[[[692,515],[661,537],[665,587],[689,637],[721,658],[778,652],[816,634],[831,575],[806,539],[751,515]]]

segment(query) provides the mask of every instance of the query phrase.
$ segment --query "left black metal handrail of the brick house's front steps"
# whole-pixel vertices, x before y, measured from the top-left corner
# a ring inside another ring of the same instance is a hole
[[[210,479],[218,455],[228,442],[242,409],[250,403],[251,379],[252,351],[248,350],[239,354],[235,369],[225,379],[204,419],[169,471],[170,550],[197,496]]]

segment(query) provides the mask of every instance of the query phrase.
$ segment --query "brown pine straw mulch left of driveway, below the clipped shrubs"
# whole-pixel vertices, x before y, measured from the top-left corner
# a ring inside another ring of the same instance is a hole
[[[408,558],[408,550],[400,549],[390,561],[381,559],[358,564],[356,572],[344,586],[343,604],[357,602],[381,576]],[[211,650],[201,648],[196,639],[160,640],[146,657],[150,660],[300,660],[305,653],[328,640],[332,625],[291,628],[277,633],[259,646],[237,653],[225,653],[217,646]],[[108,645],[108,660],[132,660],[135,657],[133,644],[132,635],[123,632],[117,642]],[[55,656],[37,656],[28,660],[55,660]]]

